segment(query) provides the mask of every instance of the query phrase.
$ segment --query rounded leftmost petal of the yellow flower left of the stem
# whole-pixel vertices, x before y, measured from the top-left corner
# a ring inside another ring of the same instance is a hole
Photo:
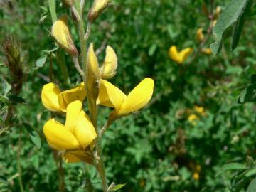
[[[60,105],[58,103],[58,94],[60,89],[53,82],[43,86],[41,99],[43,106],[50,111],[60,112]]]

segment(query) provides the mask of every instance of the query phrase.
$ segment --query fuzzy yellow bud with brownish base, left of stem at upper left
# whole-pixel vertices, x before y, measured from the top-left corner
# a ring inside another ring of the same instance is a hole
[[[78,50],[75,48],[70,31],[68,29],[68,16],[63,15],[53,23],[52,36],[57,41],[58,45],[65,49],[72,56],[78,55]]]

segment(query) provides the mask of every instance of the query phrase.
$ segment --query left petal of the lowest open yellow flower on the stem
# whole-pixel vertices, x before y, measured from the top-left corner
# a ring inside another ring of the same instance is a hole
[[[43,126],[43,133],[50,147],[58,151],[65,149],[79,149],[79,142],[63,124],[50,119]]]

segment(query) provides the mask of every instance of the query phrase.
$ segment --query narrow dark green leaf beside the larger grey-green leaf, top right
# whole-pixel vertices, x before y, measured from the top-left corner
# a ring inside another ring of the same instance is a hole
[[[238,21],[235,22],[235,25],[233,27],[233,38],[232,38],[231,50],[234,50],[238,46],[240,35],[242,33],[242,28],[245,23],[245,17],[247,13],[250,11],[251,6],[252,6],[252,1],[247,1],[247,4],[245,5],[245,10],[242,11],[241,16],[238,18]]]

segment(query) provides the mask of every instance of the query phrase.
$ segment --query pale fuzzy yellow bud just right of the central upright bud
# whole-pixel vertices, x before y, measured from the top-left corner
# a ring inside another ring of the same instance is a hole
[[[100,68],[100,75],[102,79],[108,80],[117,73],[117,55],[114,53],[112,47],[107,46],[106,56],[102,67]]]

